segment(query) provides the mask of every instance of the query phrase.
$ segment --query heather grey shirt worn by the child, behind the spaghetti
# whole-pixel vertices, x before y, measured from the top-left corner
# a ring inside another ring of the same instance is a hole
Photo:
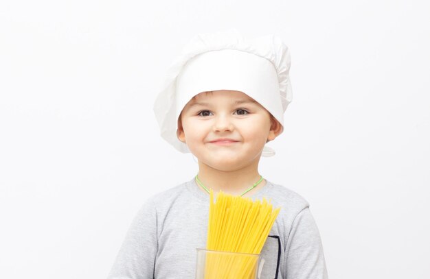
[[[302,196],[267,181],[251,199],[281,207],[261,252],[262,279],[327,279],[319,231]],[[210,198],[194,178],[140,208],[108,279],[192,279],[196,248],[206,247]]]

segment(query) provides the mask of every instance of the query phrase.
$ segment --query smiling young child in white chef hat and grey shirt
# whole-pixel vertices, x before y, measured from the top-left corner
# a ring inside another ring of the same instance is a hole
[[[235,30],[200,34],[185,47],[155,102],[161,136],[191,152],[199,173],[148,199],[126,234],[109,279],[194,278],[196,248],[206,247],[209,189],[281,207],[261,252],[261,278],[328,278],[309,204],[258,173],[265,146],[283,130],[291,102],[287,47]]]

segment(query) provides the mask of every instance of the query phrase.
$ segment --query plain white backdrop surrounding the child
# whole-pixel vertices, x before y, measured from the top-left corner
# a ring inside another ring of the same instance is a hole
[[[310,202],[329,277],[430,278],[429,10],[2,1],[0,278],[106,278],[143,202],[197,171],[159,136],[163,74],[194,34],[230,27],[291,49],[293,102],[260,173]]]

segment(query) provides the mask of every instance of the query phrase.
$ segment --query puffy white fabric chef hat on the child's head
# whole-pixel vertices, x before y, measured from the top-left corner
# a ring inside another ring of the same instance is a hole
[[[161,137],[183,153],[190,152],[177,138],[178,118],[195,95],[213,90],[247,94],[277,119],[292,101],[288,47],[278,36],[243,38],[236,29],[199,34],[190,40],[169,67],[165,87],[155,100],[154,112]],[[275,151],[264,146],[262,156]]]

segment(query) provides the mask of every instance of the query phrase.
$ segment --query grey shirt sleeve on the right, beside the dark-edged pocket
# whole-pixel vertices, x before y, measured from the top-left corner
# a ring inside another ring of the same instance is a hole
[[[287,279],[328,279],[321,237],[309,207],[295,217],[286,243]]]

